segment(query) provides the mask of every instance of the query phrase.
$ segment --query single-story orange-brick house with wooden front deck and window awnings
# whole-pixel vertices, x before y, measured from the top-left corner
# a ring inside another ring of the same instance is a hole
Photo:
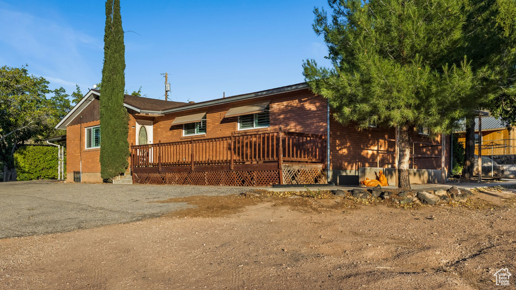
[[[68,182],[102,182],[100,98],[90,90],[56,126],[67,130]],[[395,184],[396,129],[343,126],[306,83],[199,103],[125,95],[124,106],[133,183],[358,184],[383,170]],[[443,181],[449,136],[411,137],[411,182]]]

